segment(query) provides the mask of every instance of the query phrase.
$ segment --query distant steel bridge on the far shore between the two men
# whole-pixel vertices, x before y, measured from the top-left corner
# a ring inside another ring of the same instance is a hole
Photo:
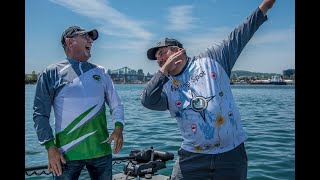
[[[108,74],[115,83],[144,83],[153,77],[153,75],[145,75],[142,69],[136,71],[129,67],[108,70]]]

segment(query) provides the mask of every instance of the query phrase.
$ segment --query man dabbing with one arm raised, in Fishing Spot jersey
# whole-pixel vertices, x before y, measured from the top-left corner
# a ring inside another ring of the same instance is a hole
[[[147,51],[160,70],[147,83],[141,103],[151,110],[169,110],[183,137],[172,179],[247,179],[247,134],[230,88],[230,74],[274,3],[263,0],[220,45],[198,56],[188,57],[183,45],[171,38]]]

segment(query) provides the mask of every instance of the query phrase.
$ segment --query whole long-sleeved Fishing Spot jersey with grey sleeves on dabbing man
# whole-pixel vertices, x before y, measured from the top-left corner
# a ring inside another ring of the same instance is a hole
[[[169,110],[183,137],[181,148],[219,154],[247,139],[234,101],[230,74],[245,45],[267,20],[257,8],[221,44],[210,46],[176,76],[160,71],[148,82],[141,103],[152,110]]]

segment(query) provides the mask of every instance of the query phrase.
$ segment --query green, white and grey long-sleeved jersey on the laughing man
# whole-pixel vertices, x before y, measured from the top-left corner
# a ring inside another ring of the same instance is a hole
[[[48,148],[54,143],[67,160],[110,154],[106,103],[112,122],[124,125],[123,105],[103,67],[74,59],[48,66],[39,76],[33,107],[40,144]]]

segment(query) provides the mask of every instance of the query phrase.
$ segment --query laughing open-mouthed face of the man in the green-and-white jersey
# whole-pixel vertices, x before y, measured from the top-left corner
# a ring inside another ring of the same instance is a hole
[[[70,56],[79,60],[87,61],[91,57],[91,47],[93,40],[86,34],[79,34],[70,39]]]

